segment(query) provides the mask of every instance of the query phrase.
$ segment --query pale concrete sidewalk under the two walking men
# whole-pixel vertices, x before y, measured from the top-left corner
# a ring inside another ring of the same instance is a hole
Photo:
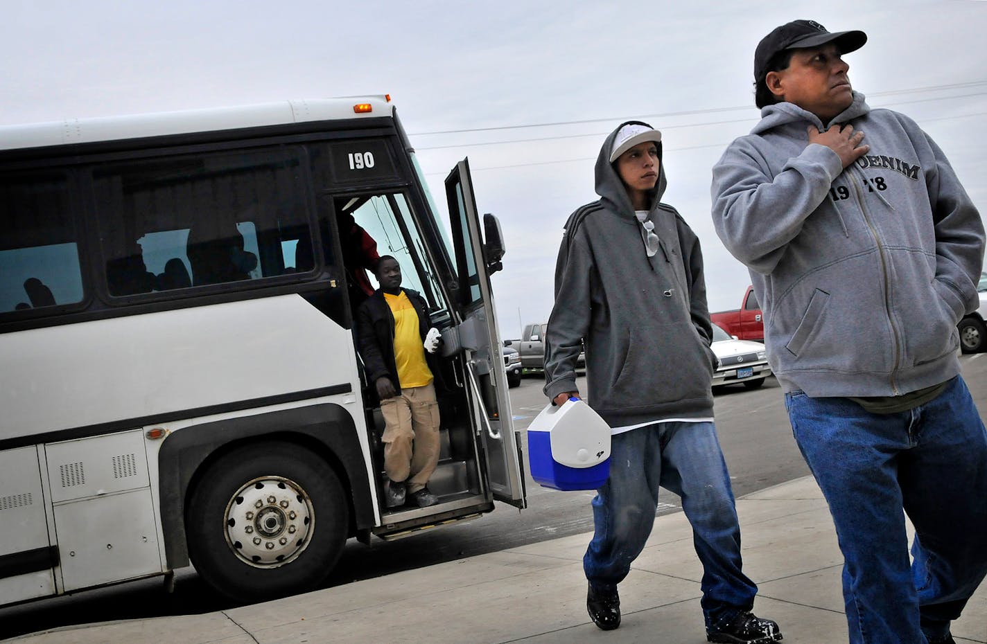
[[[785,642],[846,642],[842,557],[811,477],[737,500],[744,571],[760,587],[754,610]],[[275,602],[197,615],[103,622],[35,633],[18,644],[306,644],[325,642],[706,642],[702,568],[682,513],[659,517],[621,584],[623,622],[596,628],[586,614],[576,535],[410,570]],[[952,633],[987,643],[987,587]]]

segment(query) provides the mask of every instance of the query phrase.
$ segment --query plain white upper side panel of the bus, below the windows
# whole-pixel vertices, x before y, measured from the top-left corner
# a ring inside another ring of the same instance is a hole
[[[4,441],[323,387],[359,389],[349,331],[297,295],[3,333],[0,355]],[[79,377],[85,373],[93,376]]]

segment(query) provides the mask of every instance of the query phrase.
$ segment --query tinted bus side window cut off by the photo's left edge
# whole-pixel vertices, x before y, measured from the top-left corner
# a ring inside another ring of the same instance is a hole
[[[83,299],[75,225],[63,176],[0,182],[0,313]]]

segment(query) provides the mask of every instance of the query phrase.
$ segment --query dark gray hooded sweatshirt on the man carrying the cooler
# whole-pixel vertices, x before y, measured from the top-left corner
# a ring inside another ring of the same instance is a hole
[[[611,427],[710,418],[716,357],[699,240],[674,208],[659,203],[666,185],[661,163],[647,214],[660,248],[647,256],[642,225],[610,164],[626,124],[610,133],[596,161],[600,199],[566,223],[546,334],[545,394],[575,391],[584,344],[585,394]]]

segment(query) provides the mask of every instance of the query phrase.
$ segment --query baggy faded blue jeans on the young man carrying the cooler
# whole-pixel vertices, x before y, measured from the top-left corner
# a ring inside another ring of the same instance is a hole
[[[582,558],[586,579],[607,591],[627,577],[654,525],[659,485],[682,497],[692,524],[707,628],[750,610],[757,586],[740,570],[733,490],[711,422],[656,423],[614,435],[610,478],[592,503],[595,534]]]

